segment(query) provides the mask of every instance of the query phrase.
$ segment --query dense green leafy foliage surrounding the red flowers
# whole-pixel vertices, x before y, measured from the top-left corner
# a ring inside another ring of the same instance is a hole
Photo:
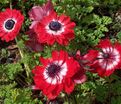
[[[31,69],[40,64],[39,56],[50,57],[52,50],[64,49],[70,54],[81,50],[84,54],[95,46],[101,38],[109,37],[112,41],[121,42],[120,0],[52,0],[54,9],[59,14],[70,16],[76,23],[75,39],[66,47],[58,44],[45,46],[40,53],[30,52],[24,40],[31,21],[28,11],[34,5],[42,5],[45,0],[11,0],[13,8],[20,9],[25,21],[17,39],[17,49],[8,49],[11,43],[0,48],[0,104],[42,104],[46,101],[41,92],[36,95],[31,86],[33,83]],[[10,5],[9,0],[0,1],[0,10]],[[118,14],[118,16],[117,16]],[[22,40],[23,39],[23,40]],[[15,48],[14,48],[15,49]],[[11,53],[16,54],[13,61]],[[87,72],[87,81],[76,86],[71,95],[62,93],[60,99],[64,104],[121,104],[121,72],[115,72],[109,78],[100,78]],[[34,96],[36,95],[36,97]],[[39,97],[40,96],[40,97]]]

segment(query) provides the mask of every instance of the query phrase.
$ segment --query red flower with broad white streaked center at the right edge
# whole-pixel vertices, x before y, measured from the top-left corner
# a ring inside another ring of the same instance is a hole
[[[111,44],[110,40],[105,39],[101,40],[97,48],[99,50],[89,51],[84,59],[89,61],[88,65],[99,76],[109,76],[121,67],[121,44]]]

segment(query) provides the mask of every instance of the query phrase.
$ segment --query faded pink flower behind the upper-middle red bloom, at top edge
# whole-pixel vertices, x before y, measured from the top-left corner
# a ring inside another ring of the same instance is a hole
[[[29,11],[29,17],[31,20],[33,20],[30,29],[34,28],[34,26],[43,19],[43,17],[47,16],[50,14],[51,11],[53,11],[53,5],[51,0],[48,0],[48,2],[41,6],[34,6],[32,9]]]

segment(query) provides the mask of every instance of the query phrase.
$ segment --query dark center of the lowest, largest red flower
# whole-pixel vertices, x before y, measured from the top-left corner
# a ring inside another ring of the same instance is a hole
[[[48,68],[48,75],[50,77],[54,77],[56,74],[58,74],[58,72],[60,71],[61,67],[59,65],[56,64],[51,64]]]

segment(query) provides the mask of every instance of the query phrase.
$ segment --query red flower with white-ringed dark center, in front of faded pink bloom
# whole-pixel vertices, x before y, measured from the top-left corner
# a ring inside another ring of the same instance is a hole
[[[37,24],[35,32],[41,43],[67,45],[74,38],[74,27],[75,23],[70,21],[70,17],[51,12]]]

